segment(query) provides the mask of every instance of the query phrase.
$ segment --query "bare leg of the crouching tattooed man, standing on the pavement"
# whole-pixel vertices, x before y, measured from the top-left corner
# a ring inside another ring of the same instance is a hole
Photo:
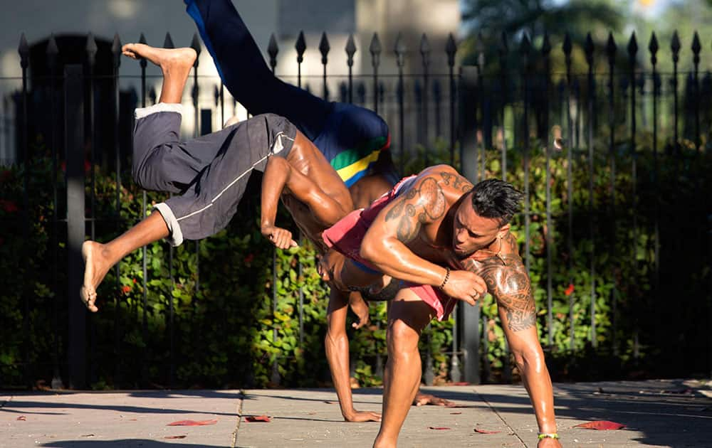
[[[383,420],[374,447],[395,447],[420,385],[418,341],[433,309],[409,289],[401,289],[388,309],[388,362],[383,389]]]

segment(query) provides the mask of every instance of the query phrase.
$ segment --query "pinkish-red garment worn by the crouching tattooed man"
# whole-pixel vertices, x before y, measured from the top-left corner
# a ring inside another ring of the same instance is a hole
[[[369,208],[354,210],[344,218],[341,218],[336,224],[324,230],[322,238],[326,245],[354,260],[361,269],[367,272],[377,272],[377,267],[361,257],[361,242],[378,213],[394,198],[398,197],[399,188],[405,181],[413,177],[402,178],[388,193],[384,193],[383,196],[373,201]],[[449,297],[429,284],[407,283],[406,287],[435,310],[439,321],[448,319],[455,308],[456,299]]]

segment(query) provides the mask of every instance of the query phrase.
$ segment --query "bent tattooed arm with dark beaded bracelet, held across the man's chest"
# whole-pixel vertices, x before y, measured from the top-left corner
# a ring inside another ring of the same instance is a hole
[[[486,285],[478,275],[466,271],[449,271],[445,267],[415,255],[407,247],[422,227],[441,220],[449,208],[441,185],[446,176],[456,172],[448,167],[433,167],[418,176],[400,196],[381,210],[361,244],[361,256],[384,274],[416,284],[443,286],[451,297],[474,304],[473,297],[482,294]],[[444,182],[443,182],[444,183]],[[459,191],[457,197],[463,192]]]

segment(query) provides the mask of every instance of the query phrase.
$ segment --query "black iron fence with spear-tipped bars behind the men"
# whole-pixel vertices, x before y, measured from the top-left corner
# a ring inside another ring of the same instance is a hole
[[[679,70],[681,44],[674,36],[671,73],[657,70],[655,36],[649,43],[649,64],[634,35],[626,51],[617,47],[612,36],[602,45],[589,35],[581,47],[585,65],[579,66],[572,58],[576,46],[568,37],[560,48],[553,48],[547,36],[539,41],[535,48],[524,37],[514,52],[508,50],[503,36],[498,60],[485,60],[482,53],[478,65],[456,67],[452,36],[444,48],[436,50],[423,36],[415,51],[405,48],[398,38],[392,43],[398,73],[391,74],[379,73],[384,50],[374,36],[368,48],[372,73],[353,75],[357,48],[350,39],[345,48],[347,75],[337,96],[371,107],[387,119],[402,174],[449,163],[472,181],[499,176],[525,191],[524,210],[515,228],[540,309],[541,340],[553,356],[555,376],[583,375],[576,368],[591,365],[581,361],[586,357],[592,363],[604,360],[614,366],[594,370],[602,375],[615,375],[615,368],[627,373],[646,369],[659,375],[709,373],[712,339],[704,329],[712,324],[707,175],[712,78],[709,73],[700,76],[697,36],[691,45],[691,70]],[[8,308],[11,304],[21,307],[14,309],[6,327],[0,381],[18,385],[21,378],[21,383],[29,385],[52,378],[54,387],[63,382],[76,388],[88,384],[120,387],[136,384],[132,378],[140,377],[144,385],[172,386],[179,383],[175,370],[185,361],[178,345],[186,341],[186,334],[191,336],[189,341],[201,340],[199,331],[189,328],[188,322],[199,319],[200,311],[196,299],[182,301],[183,279],[190,277],[194,282],[194,297],[210,300],[210,293],[201,289],[201,278],[216,269],[215,260],[202,259],[201,242],[186,245],[180,253],[172,247],[151,247],[159,257],[144,247],[138,258],[126,262],[134,271],[139,263],[138,278],[122,274],[129,268],[124,262],[113,270],[110,319],[87,318],[77,298],[83,272],[81,242],[116,235],[135,224],[125,218],[128,206],[122,198],[132,194],[122,185],[129,182],[130,114],[133,107],[155,102],[156,95],[148,87],[152,78],[145,60],[137,62],[140,76],[129,79],[140,83],[140,92],[120,88],[127,78],[120,75],[118,36],[110,44],[97,45],[91,35],[82,43],[81,57],[63,58],[61,65],[61,46],[55,38],[33,46],[32,57],[21,38],[21,90],[14,95],[14,114],[5,107],[4,120],[0,120],[6,123],[6,136],[11,131],[16,136],[14,173],[19,196],[14,198],[20,203],[11,203],[10,196],[3,200],[8,238],[23,238],[27,247],[34,247],[30,243],[33,228],[47,229],[46,252],[41,254],[44,264],[23,265],[23,260],[11,257],[17,252],[4,254],[10,257],[7,266],[18,267],[15,278],[6,279],[9,292],[3,300]],[[170,36],[164,46],[173,46]],[[200,51],[197,38],[192,46]],[[327,74],[327,36],[322,36],[319,45],[321,79],[301,75],[305,48],[300,35],[295,45],[299,70],[293,82],[332,98],[329,81],[338,75]],[[435,51],[445,56],[445,70],[431,67]],[[553,69],[551,56],[559,51],[563,66]],[[271,40],[268,55],[273,70],[277,53],[276,42]],[[513,57],[520,62],[516,70],[509,63]],[[36,63],[41,58],[44,61]],[[408,59],[411,67],[419,66],[417,73],[404,73]],[[229,99],[219,80],[199,75],[197,63],[191,87],[192,130],[197,136],[212,130],[214,115],[225,121]],[[206,88],[214,92],[209,104],[200,95]],[[6,140],[11,146],[9,137]],[[42,158],[48,166],[39,171],[33,162]],[[94,169],[96,165],[112,173],[111,188],[106,186],[107,176],[96,177],[101,172]],[[5,178],[4,183],[9,186]],[[41,219],[33,206],[33,192],[40,189],[49,201],[42,208],[47,215]],[[104,205],[108,194],[113,195],[111,208]],[[132,214],[131,219],[145,217],[152,198],[157,196],[145,191],[140,200],[135,197],[141,203],[140,214]],[[250,220],[251,216],[241,218]],[[9,246],[6,241],[3,244]],[[177,258],[186,257],[190,258],[187,264],[177,264]],[[157,267],[161,263],[164,270]],[[280,275],[288,276],[280,272],[279,263],[275,256],[271,267],[266,267],[272,276],[266,299],[271,299],[268,345],[272,344],[274,353],[268,365],[273,383],[280,383],[286,371],[279,359],[295,357],[280,356],[280,349],[275,348],[283,334],[278,316],[284,314],[278,285],[284,288],[287,280]],[[38,265],[50,272],[33,280],[32,269]],[[150,272],[163,272],[164,277],[159,281]],[[296,278],[305,275],[299,261]],[[131,282],[137,280],[139,297],[126,299],[122,291],[131,290]],[[165,294],[154,291],[162,282],[167,284]],[[298,322],[299,343],[292,345],[303,348],[305,334],[311,331],[305,330],[305,292],[298,287],[293,295],[295,306],[290,312]],[[158,323],[147,311],[157,303],[164,307],[165,316]],[[187,317],[177,321],[178,312]],[[435,378],[473,383],[511,380],[510,357],[495,315],[491,299],[483,300],[475,307],[460,306],[449,323],[426,331],[426,382]],[[382,332],[380,324],[377,321],[372,331]],[[157,358],[157,350],[147,347],[155,334],[152,326],[158,326],[164,337],[164,350]],[[142,343],[132,345],[133,337]],[[33,343],[38,340],[43,343]],[[125,347],[139,347],[140,353],[127,352]],[[375,343],[366,352],[366,363],[379,374],[384,345]],[[140,373],[125,371],[130,358],[140,358]],[[355,366],[357,360],[353,361]],[[152,372],[157,364],[167,366],[167,373]],[[254,375],[247,370],[246,376]]]

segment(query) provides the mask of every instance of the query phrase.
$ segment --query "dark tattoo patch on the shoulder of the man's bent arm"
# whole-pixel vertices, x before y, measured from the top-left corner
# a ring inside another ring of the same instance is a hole
[[[412,241],[423,223],[442,217],[445,196],[435,178],[426,177],[397,198],[386,213],[386,221],[397,221],[396,236],[402,242]]]

